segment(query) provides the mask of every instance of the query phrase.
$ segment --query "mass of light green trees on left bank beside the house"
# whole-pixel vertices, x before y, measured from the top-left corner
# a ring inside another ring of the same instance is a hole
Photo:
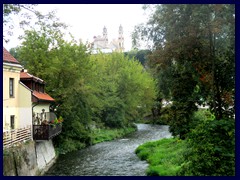
[[[127,128],[151,113],[155,81],[134,58],[123,53],[91,54],[84,44],[64,41],[62,31],[42,24],[25,31],[21,47],[11,49],[32,74],[46,80],[64,118],[55,144],[60,152],[94,141],[94,129]]]

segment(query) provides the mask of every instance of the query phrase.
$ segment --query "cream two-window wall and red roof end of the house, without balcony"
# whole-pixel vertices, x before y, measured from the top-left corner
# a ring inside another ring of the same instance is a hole
[[[3,48],[3,130],[22,128],[32,122],[31,92],[20,83],[22,68]]]

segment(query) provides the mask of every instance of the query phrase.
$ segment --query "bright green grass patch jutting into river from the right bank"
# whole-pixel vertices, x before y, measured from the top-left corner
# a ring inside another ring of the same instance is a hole
[[[176,176],[183,163],[185,146],[186,142],[177,138],[161,139],[140,145],[135,152],[149,163],[148,176]]]

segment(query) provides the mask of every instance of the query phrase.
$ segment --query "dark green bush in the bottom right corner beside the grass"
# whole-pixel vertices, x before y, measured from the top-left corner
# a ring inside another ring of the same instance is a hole
[[[188,135],[185,164],[178,175],[233,176],[235,174],[233,119],[208,120]]]

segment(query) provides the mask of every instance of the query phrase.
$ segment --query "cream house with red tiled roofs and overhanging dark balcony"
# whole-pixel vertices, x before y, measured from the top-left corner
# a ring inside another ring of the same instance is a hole
[[[56,115],[50,112],[50,105],[54,101],[45,92],[44,80],[24,70],[21,64],[3,48],[4,133],[9,133],[12,129],[28,128],[32,131],[30,134],[33,135],[33,140],[49,140],[58,135],[61,126],[58,125],[57,129],[52,130],[48,124],[56,118]],[[47,127],[48,130],[44,136],[42,127]],[[16,138],[21,139],[21,137]]]

